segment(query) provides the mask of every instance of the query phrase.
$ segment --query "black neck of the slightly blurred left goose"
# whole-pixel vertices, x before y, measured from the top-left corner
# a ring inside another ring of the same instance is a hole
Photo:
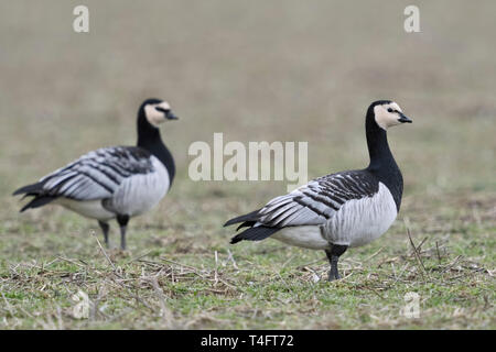
[[[151,154],[157,156],[159,161],[165,166],[169,173],[169,180],[172,185],[172,180],[175,175],[175,164],[171,152],[169,152],[165,144],[162,142],[159,129],[152,127],[148,122],[143,109],[140,109],[138,114],[138,143],[139,147],[149,151]]]

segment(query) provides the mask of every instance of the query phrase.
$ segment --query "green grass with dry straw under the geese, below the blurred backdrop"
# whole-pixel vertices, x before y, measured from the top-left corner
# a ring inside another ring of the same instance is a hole
[[[496,198],[475,198],[471,204],[477,207],[468,211],[464,197],[454,199],[438,208],[434,219],[411,213],[414,202],[407,204],[419,257],[397,221],[382,239],[349,250],[339,263],[345,278],[334,283],[325,280],[323,253],[276,241],[229,246],[229,231],[212,227],[215,215],[198,219],[190,231],[179,226],[187,219],[180,212],[177,226],[159,230],[143,229],[145,221],[138,220],[130,252],[108,251],[110,263],[87,221],[62,211],[48,217],[47,208],[34,223],[31,216],[11,220],[2,235],[0,323],[6,329],[493,329]],[[88,319],[74,318],[71,297],[78,290],[93,302]],[[407,293],[420,295],[418,319],[401,314]]]

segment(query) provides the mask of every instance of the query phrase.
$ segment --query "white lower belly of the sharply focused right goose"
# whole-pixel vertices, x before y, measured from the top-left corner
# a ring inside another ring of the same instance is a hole
[[[326,250],[330,243],[322,237],[321,228],[317,226],[288,227],[271,235],[290,245],[302,246],[311,250]]]

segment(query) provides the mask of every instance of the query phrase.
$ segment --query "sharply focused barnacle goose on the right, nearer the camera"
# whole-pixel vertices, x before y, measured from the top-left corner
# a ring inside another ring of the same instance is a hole
[[[331,264],[328,280],[339,278],[337,261],[348,249],[379,238],[395,221],[403,179],[389,150],[386,130],[412,121],[390,100],[370,105],[365,119],[370,164],[367,168],[331,174],[265,207],[225,223],[247,227],[230,243],[269,237],[287,244],[324,250]]]

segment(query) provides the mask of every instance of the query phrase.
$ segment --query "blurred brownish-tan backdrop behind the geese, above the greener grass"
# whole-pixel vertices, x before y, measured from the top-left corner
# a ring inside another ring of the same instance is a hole
[[[389,133],[408,190],[496,188],[494,1],[419,1],[421,33],[409,1],[87,1],[87,34],[77,4],[0,4],[2,194],[134,143],[148,97],[182,117],[164,127],[177,183],[214,132],[309,141],[311,177],[359,167],[365,110],[392,99],[414,121]]]

